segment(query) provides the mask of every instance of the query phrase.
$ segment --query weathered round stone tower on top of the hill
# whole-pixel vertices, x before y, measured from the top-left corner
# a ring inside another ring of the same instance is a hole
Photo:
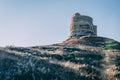
[[[81,36],[97,36],[97,26],[93,25],[91,17],[75,13],[70,23],[70,38]]]

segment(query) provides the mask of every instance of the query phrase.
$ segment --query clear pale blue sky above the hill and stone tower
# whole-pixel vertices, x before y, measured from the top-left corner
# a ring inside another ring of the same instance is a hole
[[[0,0],[0,46],[62,42],[76,12],[93,18],[98,36],[120,42],[119,8],[120,0]]]

